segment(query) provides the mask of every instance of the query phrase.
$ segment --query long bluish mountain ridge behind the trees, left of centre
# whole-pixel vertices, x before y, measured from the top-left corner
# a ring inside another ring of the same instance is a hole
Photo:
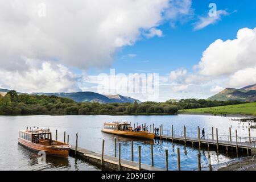
[[[104,96],[102,94],[98,94],[95,92],[73,92],[73,93],[60,92],[60,93],[31,93],[31,94],[71,98],[76,102],[98,102],[98,103],[114,103],[114,102],[133,103],[134,101],[137,101],[138,103],[141,102],[131,97],[125,97],[121,95]]]

